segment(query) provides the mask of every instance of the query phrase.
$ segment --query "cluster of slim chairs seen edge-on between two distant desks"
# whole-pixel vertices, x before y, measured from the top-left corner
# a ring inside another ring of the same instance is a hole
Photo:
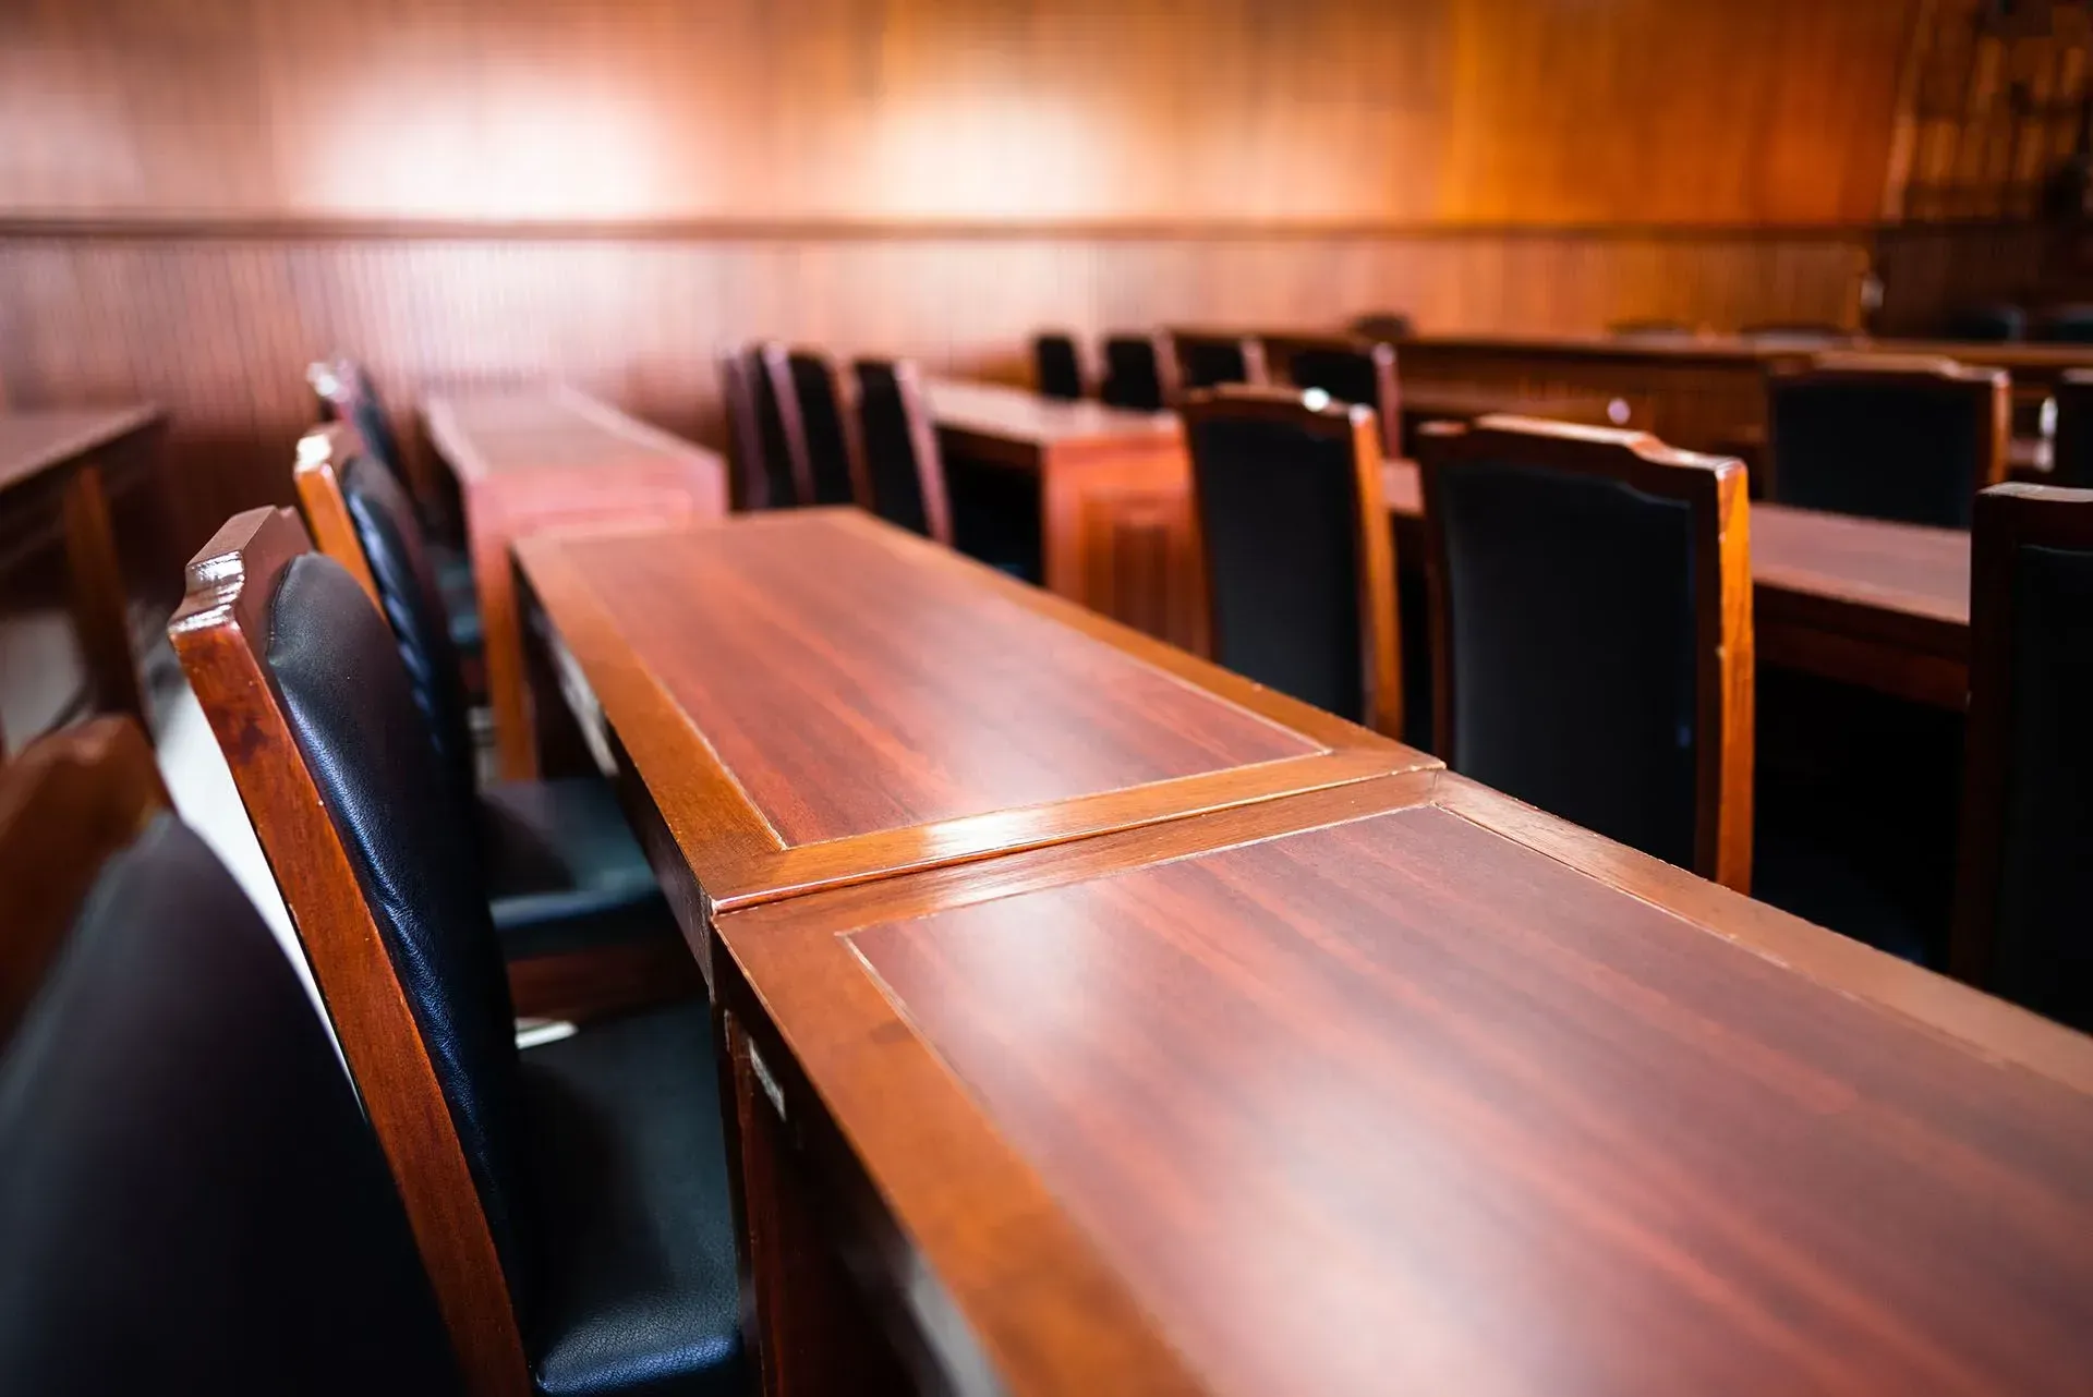
[[[856,360],[762,341],[718,360],[735,508],[856,504],[952,542],[938,433],[908,360]]]

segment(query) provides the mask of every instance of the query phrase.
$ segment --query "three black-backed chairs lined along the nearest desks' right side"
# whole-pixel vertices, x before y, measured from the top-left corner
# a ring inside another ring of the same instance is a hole
[[[1367,408],[1183,406],[1214,659],[1400,732]],[[1752,571],[1737,460],[1526,418],[1438,425],[1425,494],[1436,751],[1457,772],[1752,887]],[[2093,1027],[2093,491],[1976,496],[1957,972]]]

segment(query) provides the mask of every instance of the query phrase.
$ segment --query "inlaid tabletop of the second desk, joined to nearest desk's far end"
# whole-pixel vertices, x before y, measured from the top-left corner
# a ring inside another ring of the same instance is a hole
[[[517,544],[720,908],[1434,765],[858,510]],[[649,820],[640,820],[649,824]]]

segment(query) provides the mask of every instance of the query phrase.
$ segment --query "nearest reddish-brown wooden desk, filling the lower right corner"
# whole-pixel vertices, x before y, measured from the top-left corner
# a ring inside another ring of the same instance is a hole
[[[1453,774],[718,941],[772,1393],[2093,1372],[2093,1039]]]

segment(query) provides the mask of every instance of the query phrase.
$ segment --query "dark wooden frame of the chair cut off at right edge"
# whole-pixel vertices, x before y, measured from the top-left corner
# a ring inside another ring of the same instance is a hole
[[[1984,987],[2005,864],[2013,711],[2013,563],[2024,546],[2093,550],[2093,489],[1995,485],[1976,498],[1970,554],[1970,719],[1949,970]]]

